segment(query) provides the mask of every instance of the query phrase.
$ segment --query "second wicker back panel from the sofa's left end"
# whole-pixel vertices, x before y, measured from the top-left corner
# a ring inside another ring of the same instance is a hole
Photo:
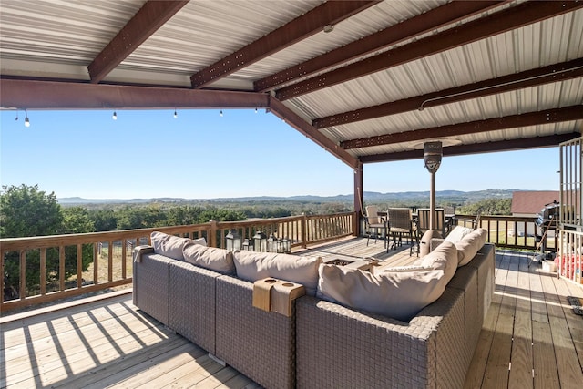
[[[220,273],[188,262],[170,263],[169,327],[215,353],[215,279]]]

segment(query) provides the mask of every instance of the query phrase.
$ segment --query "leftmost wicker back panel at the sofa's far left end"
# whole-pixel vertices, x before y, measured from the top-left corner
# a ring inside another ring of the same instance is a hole
[[[159,322],[169,325],[169,263],[159,254],[142,255],[134,262],[134,305]]]

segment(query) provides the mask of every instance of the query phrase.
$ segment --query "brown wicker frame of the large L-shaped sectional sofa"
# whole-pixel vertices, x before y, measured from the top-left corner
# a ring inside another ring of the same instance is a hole
[[[494,258],[494,245],[485,244],[435,302],[404,322],[313,292],[294,301],[290,316],[261,311],[252,306],[249,274],[244,280],[140,246],[134,304],[267,388],[455,388],[492,299]]]

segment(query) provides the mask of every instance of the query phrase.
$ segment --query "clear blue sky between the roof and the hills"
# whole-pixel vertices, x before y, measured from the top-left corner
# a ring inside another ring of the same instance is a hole
[[[0,182],[57,198],[353,193],[353,170],[264,110],[0,112]],[[429,190],[423,160],[365,164],[366,191]],[[445,157],[437,190],[558,190],[558,148]]]

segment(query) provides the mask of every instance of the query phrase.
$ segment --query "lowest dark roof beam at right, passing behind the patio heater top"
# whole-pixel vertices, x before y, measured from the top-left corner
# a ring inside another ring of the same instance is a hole
[[[481,154],[498,151],[517,151],[532,148],[552,148],[557,147],[562,142],[579,138],[579,132],[569,132],[568,134],[549,135],[536,138],[518,138],[500,140],[496,142],[475,143],[472,145],[450,146],[444,148],[444,157]],[[395,153],[384,153],[363,156],[360,160],[363,163],[391,162],[405,159],[423,159],[423,150],[415,149]]]

